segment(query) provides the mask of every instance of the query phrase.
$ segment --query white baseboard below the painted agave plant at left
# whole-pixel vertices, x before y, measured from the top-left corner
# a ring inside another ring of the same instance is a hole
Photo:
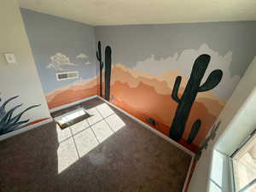
[[[23,127],[19,130],[16,130],[16,131],[11,131],[9,133],[6,133],[2,136],[0,136],[0,141],[3,141],[4,139],[7,139],[9,137],[14,137],[16,135],[19,135],[20,133],[23,133],[23,132],[26,132],[26,131],[29,131],[29,130],[32,130],[32,129],[35,129],[37,128],[38,126],[41,126],[41,125],[44,125],[44,124],[48,124],[49,122],[53,121],[52,118],[49,118],[49,119],[45,119],[45,120],[42,120],[36,124],[33,124],[33,125],[28,125],[26,127]]]

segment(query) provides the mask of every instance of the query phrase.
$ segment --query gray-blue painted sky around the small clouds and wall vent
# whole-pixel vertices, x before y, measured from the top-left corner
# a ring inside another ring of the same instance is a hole
[[[26,26],[44,93],[96,76],[93,26],[28,9],[21,9],[21,15]],[[55,70],[53,67],[47,68],[52,63],[50,57],[56,53],[66,55],[70,60],[70,65],[61,66],[62,70]],[[81,53],[87,55],[88,58],[77,58],[77,55]],[[85,65],[85,63],[90,64]],[[57,81],[55,73],[65,71],[79,71],[80,79]]]

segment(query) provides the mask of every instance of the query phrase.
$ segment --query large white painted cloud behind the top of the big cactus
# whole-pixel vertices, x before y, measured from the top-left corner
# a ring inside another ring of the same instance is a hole
[[[184,49],[180,54],[175,53],[166,59],[156,60],[154,55],[151,55],[145,61],[138,61],[134,69],[154,74],[178,71],[181,75],[189,78],[193,63],[201,54],[211,55],[211,61],[202,79],[202,83],[207,79],[212,70],[221,69],[224,73],[223,79],[212,91],[220,98],[227,100],[241,79],[238,75],[231,76],[229,70],[232,61],[231,51],[228,51],[225,55],[219,55],[217,51],[210,49],[207,44],[202,44],[199,49]]]

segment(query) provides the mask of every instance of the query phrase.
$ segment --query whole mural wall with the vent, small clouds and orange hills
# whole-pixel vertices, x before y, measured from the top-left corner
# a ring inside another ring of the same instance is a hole
[[[95,96],[94,27],[28,9],[20,12],[49,109]]]

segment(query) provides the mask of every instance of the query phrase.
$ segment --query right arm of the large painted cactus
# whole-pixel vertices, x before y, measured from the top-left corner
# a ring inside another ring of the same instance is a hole
[[[210,75],[208,76],[206,82],[199,87],[198,91],[204,92],[207,90],[212,90],[219,84],[222,76],[223,72],[220,69],[212,71],[212,73],[210,73]]]

